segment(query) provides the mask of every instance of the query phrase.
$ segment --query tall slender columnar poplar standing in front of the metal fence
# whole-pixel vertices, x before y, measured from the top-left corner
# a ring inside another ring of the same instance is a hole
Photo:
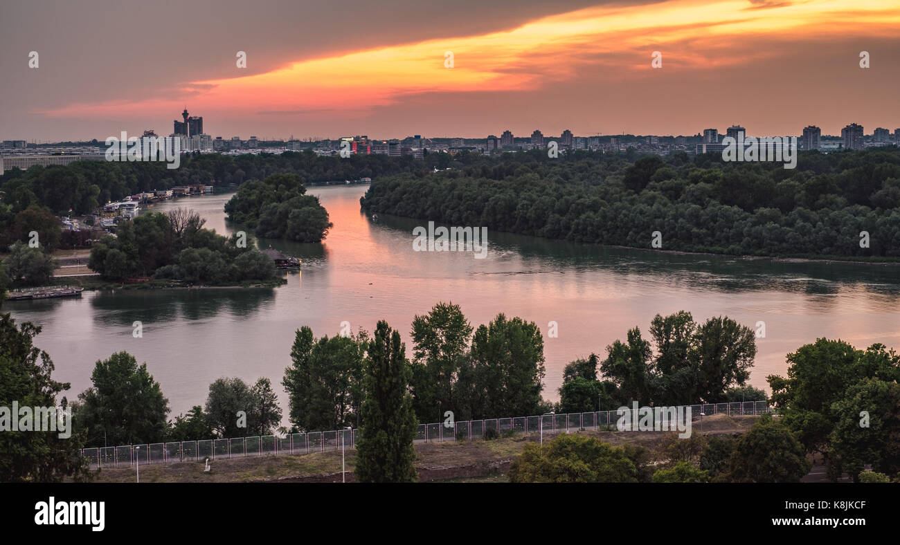
[[[365,357],[365,401],[356,445],[360,482],[415,482],[418,422],[408,391],[410,367],[400,334],[379,321]]]

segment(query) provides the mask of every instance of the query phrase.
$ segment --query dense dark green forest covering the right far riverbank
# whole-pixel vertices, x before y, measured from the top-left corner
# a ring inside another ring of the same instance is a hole
[[[545,154],[544,154],[545,155]],[[365,210],[575,242],[731,255],[900,257],[900,149],[801,152],[780,163],[715,154],[503,156],[373,181]],[[868,237],[863,236],[863,232]]]

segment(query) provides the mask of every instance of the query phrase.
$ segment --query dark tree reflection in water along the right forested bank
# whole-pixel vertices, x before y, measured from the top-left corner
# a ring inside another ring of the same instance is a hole
[[[380,214],[378,220],[378,224],[384,228],[407,234],[411,234],[413,228],[423,223],[427,222],[389,214]],[[561,271],[599,269],[623,275],[641,274],[679,287],[835,294],[852,285],[854,289],[861,288],[867,293],[877,294],[881,299],[895,301],[900,297],[900,265],[897,264],[778,261],[733,255],[675,254],[573,243],[498,231],[488,233],[488,244],[492,252],[513,251],[523,259],[543,262]]]

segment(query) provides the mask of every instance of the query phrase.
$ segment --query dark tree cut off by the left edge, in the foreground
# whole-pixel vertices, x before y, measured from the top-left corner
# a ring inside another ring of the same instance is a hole
[[[53,362],[33,344],[38,334],[40,326],[31,322],[16,326],[9,314],[0,316],[0,407],[13,407],[14,401],[19,407],[68,407],[67,399],[58,396],[69,384],[52,379]],[[80,427],[73,426],[72,431],[69,438],[52,431],[0,433],[0,482],[86,480],[87,463],[78,456],[85,435]]]

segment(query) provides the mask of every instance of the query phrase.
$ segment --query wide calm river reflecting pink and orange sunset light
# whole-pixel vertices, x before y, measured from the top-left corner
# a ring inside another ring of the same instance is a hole
[[[422,221],[359,209],[365,186],[313,187],[334,228],[322,245],[265,241],[303,260],[275,289],[103,290],[77,299],[4,304],[17,320],[43,331],[35,344],[56,364],[54,378],[71,382],[68,398],[90,386],[94,362],[128,351],[160,382],[172,416],[202,405],[220,377],[272,380],[281,386],[294,331],[336,335],[374,330],[379,319],[401,331],[411,356],[410,324],[437,301],[459,304],[474,327],[499,312],[534,321],[545,335],[545,398],[558,400],[566,362],[625,339],[640,326],[645,337],[657,313],[689,310],[700,322],[725,315],[755,328],[758,354],[750,383],[768,391],[766,376],[784,374],[785,355],[818,337],[864,348],[900,349],[900,267],[787,263],[712,255],[579,245],[488,233],[485,258],[465,252],[416,252],[412,229]],[[230,194],[167,201],[151,210],[197,210],[206,227],[231,233],[222,206]],[[132,323],[143,336],[132,336]],[[548,323],[558,336],[548,337]]]

